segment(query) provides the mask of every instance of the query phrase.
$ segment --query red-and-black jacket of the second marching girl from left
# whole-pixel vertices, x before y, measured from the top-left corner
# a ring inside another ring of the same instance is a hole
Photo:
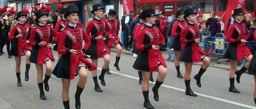
[[[49,58],[54,61],[52,50],[48,48],[47,45],[40,46],[39,43],[45,41],[50,42],[50,37],[53,36],[53,42],[57,41],[57,34],[52,29],[50,24],[45,24],[44,26],[37,25],[33,27],[30,32],[29,44],[32,46],[32,52],[29,58],[31,63],[35,64],[45,64],[45,59]]]

